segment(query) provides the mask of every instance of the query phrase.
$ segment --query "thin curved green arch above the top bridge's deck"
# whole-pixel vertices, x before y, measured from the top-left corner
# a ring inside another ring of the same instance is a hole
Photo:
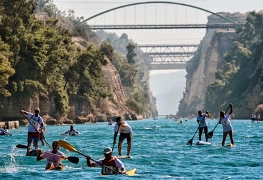
[[[221,17],[221,18],[223,18],[223,19],[226,19],[227,21],[230,21],[230,22],[233,23],[233,24],[237,24],[237,22],[235,22],[235,21],[233,21],[233,20],[231,20],[231,19],[228,19],[227,17],[224,17],[224,16],[222,16],[222,15],[218,15],[217,13],[212,12],[212,11],[210,11],[210,10],[206,10],[206,9],[203,9],[203,8],[199,8],[199,7],[197,7],[197,6],[192,6],[192,5],[189,5],[189,4],[186,4],[186,3],[176,3],[176,2],[171,2],[171,1],[146,1],[146,2],[140,2],[140,3],[130,3],[130,4],[127,4],[127,5],[118,6],[118,7],[116,7],[116,8],[111,8],[111,9],[109,9],[109,10],[105,10],[105,11],[103,11],[103,12],[100,12],[100,13],[98,13],[98,14],[96,14],[96,15],[93,15],[93,16],[87,18],[87,19],[84,19],[84,21],[82,21],[82,23],[84,23],[84,22],[86,22],[86,21],[89,21],[90,19],[93,19],[93,18],[98,17],[98,16],[100,16],[100,15],[103,15],[103,14],[105,14],[105,13],[107,13],[107,12],[111,12],[111,11],[113,11],[113,10],[117,10],[117,9],[120,9],[120,8],[125,8],[125,7],[128,7],[128,6],[136,6],[136,5],[140,5],[140,4],[147,4],[147,3],[167,3],[167,4],[176,4],[176,5],[180,5],[180,6],[188,6],[188,7],[190,7],[190,8],[195,8],[195,9],[203,10],[203,11],[205,11],[205,12],[209,12],[210,14],[216,15],[217,17]]]

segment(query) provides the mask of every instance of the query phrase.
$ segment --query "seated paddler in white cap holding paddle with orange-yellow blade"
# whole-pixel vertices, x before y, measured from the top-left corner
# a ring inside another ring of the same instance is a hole
[[[87,155],[86,156],[87,165],[89,165],[89,167],[102,167],[101,174],[105,174],[105,175],[106,174],[117,174],[116,172],[120,174],[125,174],[126,170],[125,170],[125,166],[123,162],[117,159],[116,156],[114,157],[112,156],[111,147],[105,147],[105,149],[103,150],[103,154],[105,156],[104,159],[100,159],[92,163],[90,161],[91,156]]]

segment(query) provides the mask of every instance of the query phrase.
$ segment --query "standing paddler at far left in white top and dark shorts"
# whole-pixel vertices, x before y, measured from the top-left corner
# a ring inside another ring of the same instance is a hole
[[[35,149],[38,149],[38,141],[40,139],[40,134],[37,132],[37,129],[43,127],[43,119],[39,116],[40,109],[36,107],[34,113],[30,113],[24,110],[20,110],[21,113],[26,114],[28,116],[28,150],[27,153],[30,151],[30,146],[33,141],[33,145]]]

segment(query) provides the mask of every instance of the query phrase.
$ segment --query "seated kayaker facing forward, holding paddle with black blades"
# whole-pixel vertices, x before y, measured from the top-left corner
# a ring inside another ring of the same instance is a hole
[[[52,150],[48,152],[42,152],[42,150],[39,150],[39,153],[37,154],[37,161],[41,161],[42,159],[46,158],[46,170],[53,167],[62,166],[62,159],[66,160],[66,156],[59,149],[60,145],[58,145],[58,142],[53,141]]]

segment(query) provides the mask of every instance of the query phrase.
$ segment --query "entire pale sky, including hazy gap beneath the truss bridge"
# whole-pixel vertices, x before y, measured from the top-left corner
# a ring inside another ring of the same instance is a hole
[[[149,0],[145,0],[149,1]],[[53,0],[62,12],[75,11],[75,17],[87,19],[105,10],[130,3],[145,1],[127,0]],[[185,0],[172,1],[197,6],[212,12],[249,12],[263,10],[263,0]],[[208,12],[202,12],[185,6],[150,4],[116,10],[107,13],[88,24],[204,24]],[[206,30],[174,29],[174,30],[107,30],[117,35],[126,33],[129,39],[137,44],[199,44]],[[185,90],[185,70],[150,71],[150,88],[156,97],[158,114],[176,114],[179,101]]]

